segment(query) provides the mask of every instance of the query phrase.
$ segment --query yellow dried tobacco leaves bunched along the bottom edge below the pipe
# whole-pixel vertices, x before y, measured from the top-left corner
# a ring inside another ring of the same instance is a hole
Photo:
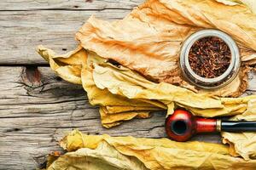
[[[133,137],[110,137],[108,135],[93,136],[84,135],[77,130],[67,135],[61,141],[61,146],[68,151],[61,156],[55,164],[64,164],[65,167],[78,165],[80,160],[86,160],[88,151],[98,161],[92,164],[106,163],[102,161],[104,156],[115,160],[119,154],[119,161],[108,161],[113,166],[119,166],[120,161],[126,161],[123,156],[131,156],[135,164],[141,162],[148,169],[253,169],[256,161],[244,161],[229,155],[229,148],[222,144],[210,144],[204,142],[179,143],[170,139],[139,139]],[[107,152],[99,152],[108,150]],[[79,155],[78,155],[79,153]],[[74,157],[71,159],[70,157]],[[131,163],[131,161],[124,163]],[[67,164],[67,162],[69,162]],[[86,161],[85,161],[86,162]],[[86,169],[81,167],[81,169]],[[113,168],[114,169],[114,168]],[[128,168],[129,169],[129,168]],[[136,167],[135,169],[144,169]]]

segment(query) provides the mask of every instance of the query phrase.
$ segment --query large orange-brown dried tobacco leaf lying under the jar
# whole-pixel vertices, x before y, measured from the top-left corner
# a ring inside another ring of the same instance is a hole
[[[255,23],[256,16],[238,3],[148,0],[124,20],[108,22],[90,17],[76,38],[84,48],[116,60],[149,80],[200,92],[183,80],[178,68],[178,54],[186,37],[204,28],[216,28],[230,34],[240,47],[247,48],[246,54],[241,51],[242,59],[255,59]],[[237,87],[236,92],[230,91],[225,96],[241,94],[240,90]]]

